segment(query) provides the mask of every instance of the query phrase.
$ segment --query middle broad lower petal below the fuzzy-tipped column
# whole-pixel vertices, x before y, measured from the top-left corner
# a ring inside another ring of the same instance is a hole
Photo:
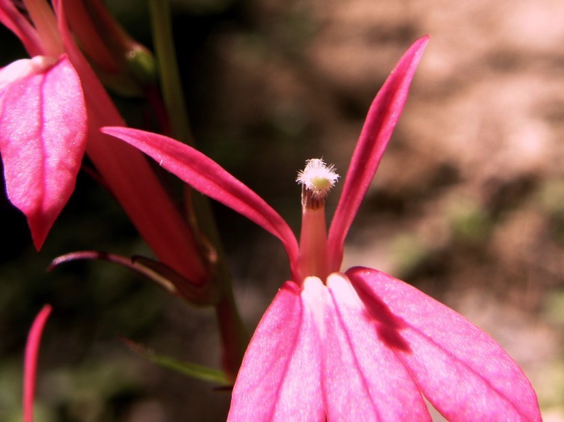
[[[329,421],[430,421],[422,394],[345,274],[327,279],[323,384]]]

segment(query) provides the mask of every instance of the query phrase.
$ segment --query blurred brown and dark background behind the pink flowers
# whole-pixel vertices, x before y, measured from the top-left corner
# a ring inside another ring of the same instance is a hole
[[[144,1],[107,2],[145,45]],[[344,176],[371,100],[431,34],[398,129],[347,238],[344,268],[389,272],[485,329],[521,364],[546,421],[564,421],[564,3],[560,0],[176,0],[199,147],[299,229],[297,170]],[[0,65],[25,56],[0,28]],[[132,125],[140,100],[116,98]],[[329,197],[329,218],[340,190]],[[289,276],[276,239],[215,206],[252,332]],[[46,302],[38,421],[221,421],[229,394],[120,341],[219,367],[213,311],[192,309],[78,249],[150,254],[86,173],[45,247],[0,199],[0,421],[21,420],[25,335]],[[158,222],[155,222],[157,224]]]

